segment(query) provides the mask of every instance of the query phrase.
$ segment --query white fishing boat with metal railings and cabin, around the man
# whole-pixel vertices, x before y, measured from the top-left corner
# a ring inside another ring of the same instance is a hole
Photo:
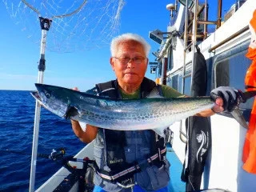
[[[256,9],[255,0],[237,0],[225,15],[222,15],[222,0],[218,0],[214,21],[208,20],[207,1],[178,0],[166,8],[171,18],[166,31],[150,31],[150,38],[159,43],[159,50],[153,53],[155,61],[150,62],[156,82],[191,96],[209,95],[210,90],[218,86],[244,90],[246,70],[251,63],[245,56],[250,44],[248,24]],[[252,103],[250,99],[240,105],[246,122],[249,122]],[[189,118],[175,122],[168,131],[167,158],[172,165],[170,191],[186,191],[194,186],[209,191],[255,191],[256,174],[242,169],[246,128],[228,113],[214,114],[200,120],[198,125],[195,121],[199,120]],[[199,127],[200,133],[193,132],[191,126]],[[68,159],[70,167],[82,169],[85,158],[93,159],[93,142],[85,146],[74,161]],[[79,182],[74,174],[77,172],[62,167],[36,191],[79,191],[81,179]]]

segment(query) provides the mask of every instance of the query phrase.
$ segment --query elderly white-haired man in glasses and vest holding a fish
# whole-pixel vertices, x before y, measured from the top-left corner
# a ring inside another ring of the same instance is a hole
[[[110,65],[117,79],[99,83],[88,92],[110,98],[146,98],[157,88],[166,98],[184,96],[169,86],[157,85],[145,78],[150,45],[139,35],[122,34],[114,38],[110,50]],[[237,101],[236,92],[230,87],[214,90],[219,98],[214,98],[213,109],[196,115],[209,117],[227,107],[231,109],[232,106],[227,105],[236,104],[229,102]],[[94,175],[94,191],[168,191],[170,163],[166,160],[166,146],[163,138],[153,130],[118,131],[86,125],[83,131],[78,122],[71,123],[74,134],[82,142],[88,143],[95,138],[94,159],[100,174]],[[127,171],[130,169],[134,170]],[[113,178],[113,175],[119,176]]]

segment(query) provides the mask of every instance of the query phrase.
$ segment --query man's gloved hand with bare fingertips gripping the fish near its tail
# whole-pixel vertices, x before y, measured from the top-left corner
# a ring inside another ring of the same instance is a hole
[[[212,110],[215,113],[222,111],[231,112],[238,105],[238,90],[230,86],[219,86],[210,92],[210,97],[214,100],[215,105]]]

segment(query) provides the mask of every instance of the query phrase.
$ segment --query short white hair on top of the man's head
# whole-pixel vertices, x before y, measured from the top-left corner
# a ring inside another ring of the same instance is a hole
[[[135,42],[138,42],[138,43],[142,44],[142,46],[145,50],[146,57],[149,56],[149,54],[150,54],[150,44],[148,42],[146,42],[146,40],[144,38],[142,38],[142,36],[140,36],[138,34],[130,34],[130,33],[129,34],[121,34],[121,35],[112,39],[112,42],[111,42],[111,45],[110,45],[111,56],[112,57],[114,56],[114,54],[118,50],[118,45],[121,42],[129,41],[129,40],[133,40]]]

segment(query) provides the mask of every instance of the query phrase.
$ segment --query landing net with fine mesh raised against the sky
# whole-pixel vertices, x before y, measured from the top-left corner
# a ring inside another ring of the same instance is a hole
[[[40,45],[39,17],[51,19],[46,50],[74,52],[109,46],[118,34],[124,0],[2,0],[10,18]]]

